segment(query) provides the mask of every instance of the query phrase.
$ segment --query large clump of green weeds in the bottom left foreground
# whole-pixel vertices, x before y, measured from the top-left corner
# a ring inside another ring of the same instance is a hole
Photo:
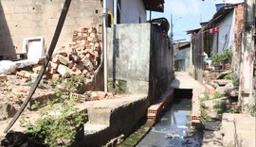
[[[51,102],[49,105],[53,105]],[[49,146],[68,146],[76,136],[76,128],[85,121],[85,113],[78,111],[74,103],[63,103],[59,108],[59,115],[49,112],[56,109],[47,107],[41,113],[40,119],[35,124],[27,122],[27,135]]]

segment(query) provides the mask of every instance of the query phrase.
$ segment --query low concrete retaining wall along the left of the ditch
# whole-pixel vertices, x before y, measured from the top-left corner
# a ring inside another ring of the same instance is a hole
[[[83,146],[102,146],[121,135],[127,137],[137,122],[146,116],[149,106],[146,95],[130,95],[130,97],[123,97],[122,99],[125,101],[119,99],[121,103],[115,100],[110,102],[113,106],[107,105],[108,102],[105,101],[103,106],[88,108],[89,122],[103,124],[106,127],[94,134],[85,135],[81,142]],[[88,129],[86,126],[84,128]]]

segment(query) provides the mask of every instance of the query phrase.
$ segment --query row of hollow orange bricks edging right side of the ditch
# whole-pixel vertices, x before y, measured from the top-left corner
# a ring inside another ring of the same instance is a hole
[[[192,90],[192,126],[201,125],[200,90]]]

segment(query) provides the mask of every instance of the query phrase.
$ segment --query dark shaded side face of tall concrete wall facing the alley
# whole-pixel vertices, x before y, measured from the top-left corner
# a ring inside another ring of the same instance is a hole
[[[151,26],[149,98],[154,100],[163,93],[174,78],[174,50],[167,38]]]

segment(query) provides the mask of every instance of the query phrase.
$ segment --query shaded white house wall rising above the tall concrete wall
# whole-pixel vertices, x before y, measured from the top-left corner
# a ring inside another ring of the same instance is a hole
[[[107,7],[114,15],[114,0],[107,1]],[[146,23],[147,13],[142,0],[121,0],[120,24]]]

